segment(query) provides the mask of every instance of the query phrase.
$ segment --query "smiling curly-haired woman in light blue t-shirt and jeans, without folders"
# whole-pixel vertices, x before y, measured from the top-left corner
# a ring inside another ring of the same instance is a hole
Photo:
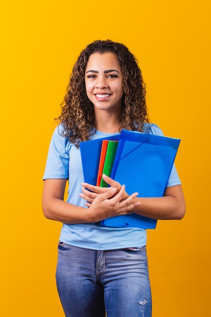
[[[80,142],[121,129],[163,135],[148,121],[141,70],[128,48],[95,41],[80,53],[58,119],[44,175],[43,211],[63,223],[56,280],[65,315],[149,317],[146,230],[99,222],[132,212],[154,219],[183,218],[185,201],[176,169],[163,197],[142,198],[137,197],[139,188],[129,195],[124,184],[106,175],[110,187],[84,183],[80,158]]]

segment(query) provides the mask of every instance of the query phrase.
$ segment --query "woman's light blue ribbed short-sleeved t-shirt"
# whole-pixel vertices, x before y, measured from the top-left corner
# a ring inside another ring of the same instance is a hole
[[[83,180],[80,149],[63,137],[59,125],[53,134],[46,170],[43,179],[67,178],[67,202],[85,207],[85,201],[79,197]],[[154,124],[144,124],[144,132],[163,136],[162,131]],[[119,134],[119,133],[116,133]],[[99,139],[113,134],[96,131],[92,139]],[[181,184],[175,166],[173,166],[167,187]],[[63,224],[60,240],[66,244],[93,250],[115,250],[146,245],[146,230],[140,228],[109,228],[98,223]]]

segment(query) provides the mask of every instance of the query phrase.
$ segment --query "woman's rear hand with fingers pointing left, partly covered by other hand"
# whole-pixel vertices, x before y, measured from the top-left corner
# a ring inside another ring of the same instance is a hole
[[[116,188],[115,195],[118,194],[118,192],[121,189],[121,184],[113,180],[112,178],[106,176],[103,174],[102,176],[103,180],[110,185],[111,187]],[[90,207],[91,204],[93,203],[94,199],[99,195],[102,194],[108,190],[110,190],[110,187],[99,187],[99,186],[94,186],[88,183],[82,183],[82,193],[79,194],[81,198],[84,200],[88,201],[89,203],[85,203],[86,206]],[[123,199],[125,200],[129,194],[124,190],[123,192]]]

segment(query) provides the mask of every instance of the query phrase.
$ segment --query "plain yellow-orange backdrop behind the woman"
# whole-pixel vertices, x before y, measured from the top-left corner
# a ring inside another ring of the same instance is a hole
[[[186,216],[148,230],[153,317],[210,316],[210,0],[12,0],[0,11],[0,316],[64,317],[61,224],[43,216],[42,177],[73,63],[107,38],[136,55],[151,121],[182,140]]]

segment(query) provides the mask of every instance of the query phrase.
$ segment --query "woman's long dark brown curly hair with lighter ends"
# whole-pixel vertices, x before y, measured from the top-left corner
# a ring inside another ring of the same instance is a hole
[[[61,115],[56,119],[63,126],[63,136],[76,147],[87,141],[96,132],[93,103],[89,100],[85,86],[85,70],[93,53],[116,55],[123,74],[122,114],[120,129],[143,131],[143,123],[149,122],[146,106],[146,90],[141,69],[136,57],[121,43],[94,41],[79,55],[70,75],[67,92],[61,104]]]

